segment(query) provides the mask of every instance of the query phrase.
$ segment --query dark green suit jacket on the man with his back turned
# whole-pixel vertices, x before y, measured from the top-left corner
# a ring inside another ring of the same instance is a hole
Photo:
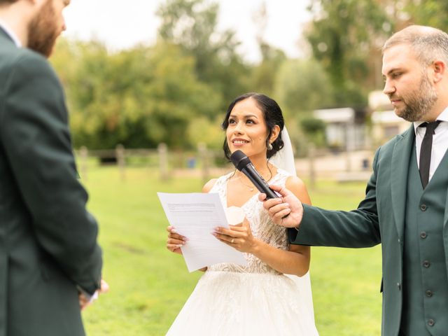
[[[102,252],[67,118],[48,61],[0,29],[0,336],[85,335]]]

